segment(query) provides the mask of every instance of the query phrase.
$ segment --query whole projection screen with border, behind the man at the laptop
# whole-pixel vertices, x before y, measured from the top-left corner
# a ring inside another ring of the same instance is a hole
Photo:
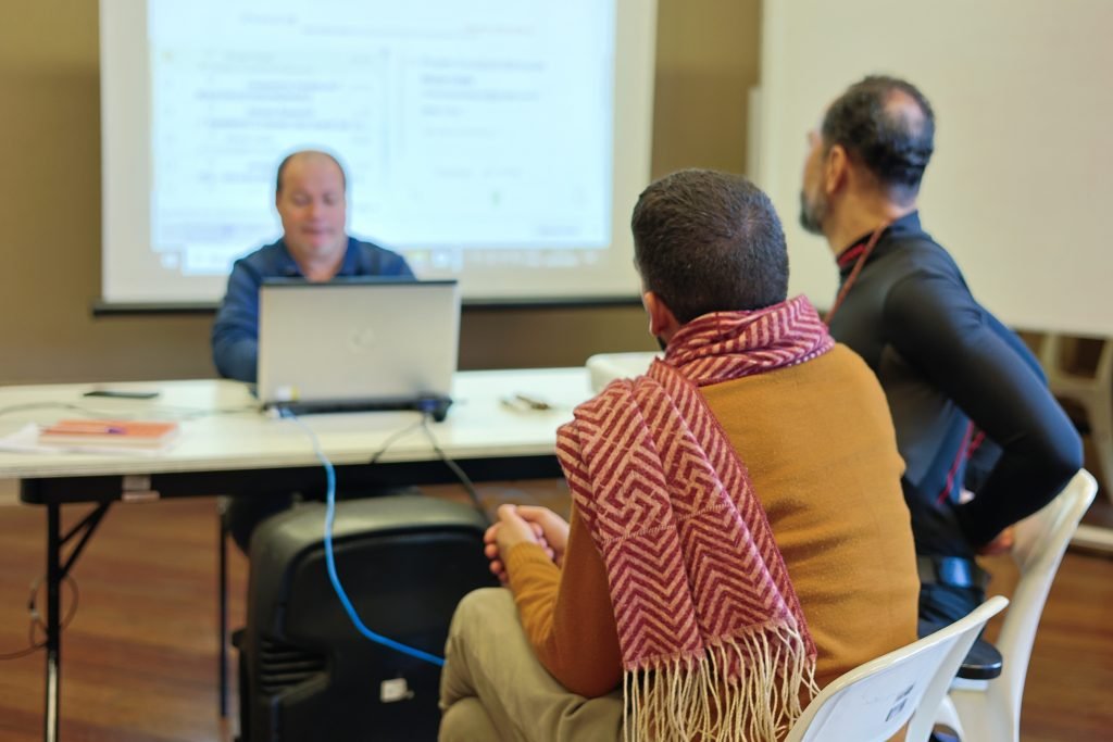
[[[216,301],[324,148],[348,231],[467,300],[638,295],[654,0],[100,0],[102,299]]]

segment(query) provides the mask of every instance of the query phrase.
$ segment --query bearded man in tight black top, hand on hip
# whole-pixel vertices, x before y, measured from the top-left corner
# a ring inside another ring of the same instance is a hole
[[[809,135],[800,221],[839,265],[831,334],[866,359],[893,410],[920,617],[951,622],[984,600],[974,556],[1011,545],[1008,526],[1058,493],[1082,446],[1035,358],[920,227],[934,135],[932,107],[908,82],[851,86]]]

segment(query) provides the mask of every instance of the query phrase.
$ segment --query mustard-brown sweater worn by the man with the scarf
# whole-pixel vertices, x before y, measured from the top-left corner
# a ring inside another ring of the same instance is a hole
[[[889,409],[843,345],[701,389],[749,469],[818,649],[820,686],[916,639],[919,581]],[[506,555],[522,626],[546,670],[594,698],[622,677],[602,556],[572,507],[563,564]]]

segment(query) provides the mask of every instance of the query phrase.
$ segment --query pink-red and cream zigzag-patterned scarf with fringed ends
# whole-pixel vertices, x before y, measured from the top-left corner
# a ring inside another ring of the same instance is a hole
[[[558,456],[607,566],[626,739],[775,740],[815,692],[815,644],[765,509],[697,387],[834,344],[804,297],[705,315],[561,427]]]

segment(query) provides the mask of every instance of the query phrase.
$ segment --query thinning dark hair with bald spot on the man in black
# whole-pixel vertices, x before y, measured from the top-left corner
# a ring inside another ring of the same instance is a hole
[[[913,100],[910,113],[902,97]],[[847,88],[824,117],[824,145],[841,145],[898,201],[919,192],[935,150],[935,113],[914,85],[886,76],[870,76]]]

